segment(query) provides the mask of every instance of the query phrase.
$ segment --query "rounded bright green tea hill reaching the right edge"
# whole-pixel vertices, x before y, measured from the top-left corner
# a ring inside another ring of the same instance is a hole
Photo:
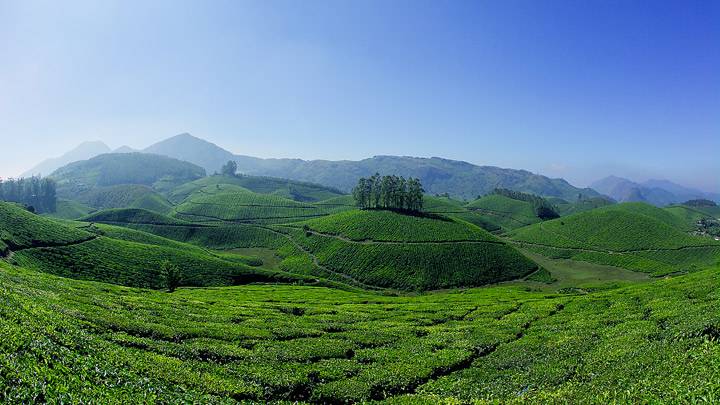
[[[607,264],[655,276],[709,268],[720,259],[720,243],[683,233],[634,210],[598,209],[518,229],[509,237],[513,243],[547,257]]]

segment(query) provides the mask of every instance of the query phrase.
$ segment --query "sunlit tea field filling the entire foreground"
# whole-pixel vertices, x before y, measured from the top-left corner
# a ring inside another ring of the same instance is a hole
[[[720,270],[585,295],[74,281],[0,261],[6,403],[716,403]]]

